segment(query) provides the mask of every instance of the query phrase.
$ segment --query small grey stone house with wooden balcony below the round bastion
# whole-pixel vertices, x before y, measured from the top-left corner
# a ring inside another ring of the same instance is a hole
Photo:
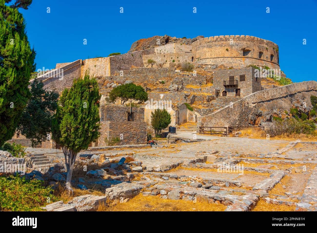
[[[225,69],[214,72],[213,91],[216,97],[245,97],[261,91],[261,77],[255,68]]]

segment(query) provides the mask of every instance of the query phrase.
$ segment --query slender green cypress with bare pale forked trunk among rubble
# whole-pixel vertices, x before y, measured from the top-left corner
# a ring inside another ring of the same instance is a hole
[[[96,79],[86,73],[84,79],[74,79],[73,86],[60,97],[52,121],[52,138],[61,145],[67,168],[66,188],[73,192],[71,179],[77,153],[86,150],[100,133],[99,87]]]

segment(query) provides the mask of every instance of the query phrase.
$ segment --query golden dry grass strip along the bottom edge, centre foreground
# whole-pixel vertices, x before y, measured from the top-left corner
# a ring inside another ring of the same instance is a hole
[[[102,205],[98,211],[224,211],[225,205],[197,200],[197,203],[185,200],[162,199],[159,196],[144,197],[139,194],[126,203]]]

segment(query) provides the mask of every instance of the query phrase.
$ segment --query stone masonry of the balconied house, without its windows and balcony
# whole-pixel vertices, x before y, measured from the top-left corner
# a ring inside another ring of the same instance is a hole
[[[240,75],[245,75],[245,80],[240,80]],[[223,81],[229,81],[229,77],[234,76],[238,85],[224,86]],[[227,91],[228,97],[236,96],[236,89],[240,89],[240,97],[245,97],[253,92],[261,90],[261,78],[255,77],[255,68],[247,67],[241,69],[225,69],[217,70],[213,75],[213,92],[220,90],[219,95],[222,96],[223,91]]]

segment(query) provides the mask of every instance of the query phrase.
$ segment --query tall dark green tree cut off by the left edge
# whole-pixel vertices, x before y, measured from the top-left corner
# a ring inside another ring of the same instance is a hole
[[[30,48],[25,22],[18,7],[27,9],[32,1],[0,0],[0,146],[16,131],[30,91],[30,73],[35,70],[35,51]]]

